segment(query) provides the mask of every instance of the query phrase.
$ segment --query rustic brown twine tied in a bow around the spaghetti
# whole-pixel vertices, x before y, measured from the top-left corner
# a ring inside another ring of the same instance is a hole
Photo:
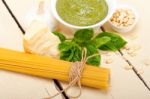
[[[59,91],[57,94],[53,95],[53,96],[50,96],[48,98],[44,98],[44,99],[52,99],[52,98],[55,98],[56,96],[60,95],[61,93],[63,92],[66,92],[68,91],[68,89],[70,89],[71,87],[73,87],[74,85],[78,85],[79,87],[79,94],[76,95],[76,96],[72,96],[72,95],[68,95],[67,96],[69,98],[78,98],[81,96],[82,94],[82,86],[81,86],[81,76],[82,76],[82,72],[84,71],[84,67],[85,67],[85,64],[87,62],[87,60],[89,58],[92,58],[94,56],[98,56],[99,54],[94,54],[92,56],[89,56],[88,58],[86,58],[86,55],[87,55],[87,49],[84,48],[82,50],[82,58],[81,58],[81,61],[80,62],[74,62],[70,68],[70,72],[69,72],[69,84],[68,86]]]

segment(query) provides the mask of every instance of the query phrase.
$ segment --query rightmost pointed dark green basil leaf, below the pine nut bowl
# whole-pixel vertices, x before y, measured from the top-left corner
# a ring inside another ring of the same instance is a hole
[[[102,45],[101,47],[99,47],[99,49],[101,50],[117,51],[127,44],[127,42],[123,38],[121,38],[119,35],[114,33],[103,32],[97,35],[96,38],[101,38],[106,36],[110,37],[111,40],[106,44]]]

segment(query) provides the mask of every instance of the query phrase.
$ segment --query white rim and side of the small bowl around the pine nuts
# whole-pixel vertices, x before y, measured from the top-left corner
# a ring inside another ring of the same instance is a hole
[[[127,32],[130,32],[131,30],[133,30],[134,29],[134,27],[136,26],[136,24],[137,24],[137,22],[138,22],[138,20],[139,20],[139,15],[137,14],[137,11],[132,7],[132,6],[130,6],[130,5],[126,5],[126,4],[124,4],[124,5],[119,5],[117,8],[116,8],[116,10],[117,9],[130,9],[132,12],[133,12],[133,14],[135,15],[135,21],[134,21],[134,23],[132,24],[132,25],[130,25],[130,26],[128,26],[128,27],[118,27],[118,26],[116,26],[116,25],[114,25],[110,20],[108,21],[108,23],[109,23],[109,25],[111,26],[111,28],[113,29],[113,30],[115,30],[116,32],[119,32],[119,33],[127,33]]]

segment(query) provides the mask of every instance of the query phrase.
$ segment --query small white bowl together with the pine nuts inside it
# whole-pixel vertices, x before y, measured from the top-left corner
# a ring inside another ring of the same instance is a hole
[[[126,33],[136,26],[138,19],[139,16],[134,8],[129,5],[120,5],[108,23],[115,31]]]

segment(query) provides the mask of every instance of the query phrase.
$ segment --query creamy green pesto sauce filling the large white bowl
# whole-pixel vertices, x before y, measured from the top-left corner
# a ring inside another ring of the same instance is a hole
[[[90,26],[103,20],[108,13],[105,0],[57,0],[58,15],[75,26]]]

